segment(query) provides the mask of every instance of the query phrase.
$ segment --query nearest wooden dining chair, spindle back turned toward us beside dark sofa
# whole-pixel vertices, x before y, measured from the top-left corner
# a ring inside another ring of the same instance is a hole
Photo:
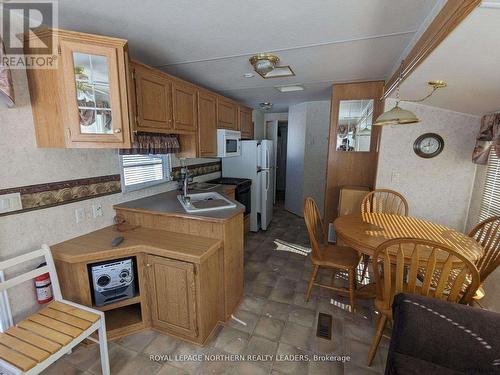
[[[479,287],[476,266],[437,242],[415,238],[385,241],[375,250],[372,265],[377,286],[375,308],[380,315],[368,352],[368,366],[373,362],[387,320],[392,320],[391,307],[396,294],[404,292],[459,302],[468,298],[464,294],[474,294]],[[466,278],[470,279],[470,287],[464,291]],[[432,287],[434,280],[437,284]]]

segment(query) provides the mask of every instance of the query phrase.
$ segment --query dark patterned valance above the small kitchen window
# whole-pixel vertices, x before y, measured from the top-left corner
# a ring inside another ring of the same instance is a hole
[[[172,134],[137,132],[133,138],[132,148],[121,149],[120,155],[175,154],[181,149]]]

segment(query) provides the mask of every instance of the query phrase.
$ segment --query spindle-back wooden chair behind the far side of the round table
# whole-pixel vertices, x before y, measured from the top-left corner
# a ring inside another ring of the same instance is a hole
[[[395,214],[408,216],[408,202],[394,190],[375,189],[363,198],[362,213]]]

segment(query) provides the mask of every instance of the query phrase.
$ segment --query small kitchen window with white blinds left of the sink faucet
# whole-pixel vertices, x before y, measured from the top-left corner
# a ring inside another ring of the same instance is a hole
[[[170,155],[120,155],[122,191],[162,184],[170,178]]]

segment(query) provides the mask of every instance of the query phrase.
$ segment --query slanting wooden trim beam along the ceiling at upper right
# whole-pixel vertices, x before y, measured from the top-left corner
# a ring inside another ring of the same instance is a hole
[[[402,80],[405,80],[479,4],[481,0],[447,1],[405,57],[401,70]],[[384,97],[387,98],[402,80],[398,69],[387,81]]]

